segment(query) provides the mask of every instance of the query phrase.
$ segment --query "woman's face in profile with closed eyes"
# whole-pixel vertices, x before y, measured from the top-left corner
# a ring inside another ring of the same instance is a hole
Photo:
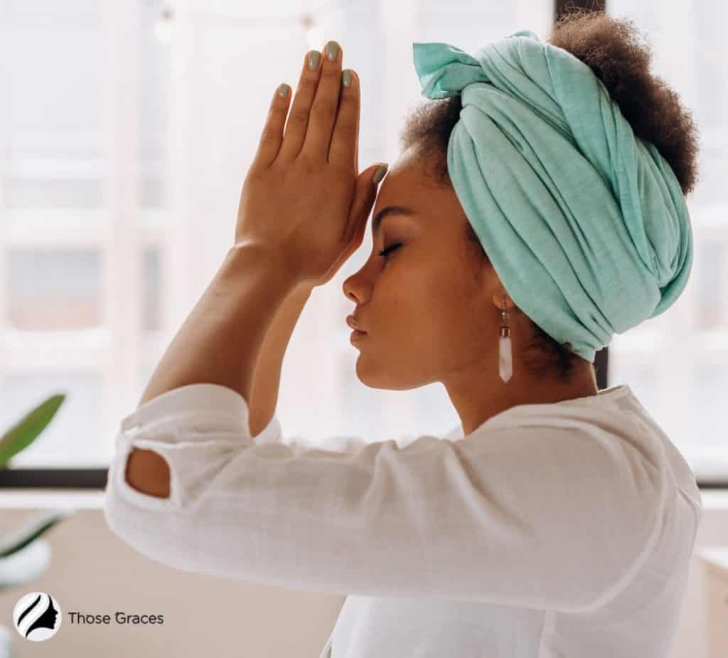
[[[382,181],[368,230],[389,205],[412,214],[382,220],[369,258],[343,284],[367,332],[353,343],[357,377],[372,388],[403,390],[488,372],[497,359],[500,282],[480,246],[467,240],[454,190],[428,178],[408,150]]]

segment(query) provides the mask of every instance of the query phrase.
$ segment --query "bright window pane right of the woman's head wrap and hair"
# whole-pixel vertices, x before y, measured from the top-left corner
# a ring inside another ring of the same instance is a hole
[[[609,345],[609,378],[628,382],[695,471],[701,486],[728,483],[728,66],[719,33],[726,9],[707,2],[609,0],[653,47],[652,71],[693,111],[700,182],[687,197],[693,269],[682,296]],[[721,50],[722,49],[722,50]]]

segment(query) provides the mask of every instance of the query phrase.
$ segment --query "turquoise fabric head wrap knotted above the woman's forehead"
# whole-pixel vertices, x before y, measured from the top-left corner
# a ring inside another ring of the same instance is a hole
[[[680,184],[591,68],[521,30],[475,57],[414,43],[422,95],[462,95],[448,174],[515,305],[583,359],[679,297]]]

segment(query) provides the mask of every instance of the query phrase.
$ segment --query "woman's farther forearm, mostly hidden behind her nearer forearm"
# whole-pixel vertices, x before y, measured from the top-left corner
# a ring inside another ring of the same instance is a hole
[[[253,388],[248,402],[250,434],[256,436],[266,428],[275,413],[280,387],[280,373],[290,336],[311,296],[309,287],[293,289],[280,305],[268,328],[253,374]]]

